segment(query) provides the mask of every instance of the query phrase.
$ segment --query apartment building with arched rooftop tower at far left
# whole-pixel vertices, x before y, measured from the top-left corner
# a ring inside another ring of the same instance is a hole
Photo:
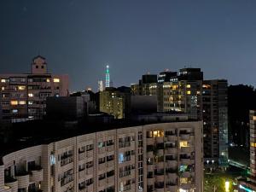
[[[49,73],[40,55],[33,58],[31,67],[31,73],[0,74],[3,119],[41,119],[47,96],[68,96],[67,75]]]

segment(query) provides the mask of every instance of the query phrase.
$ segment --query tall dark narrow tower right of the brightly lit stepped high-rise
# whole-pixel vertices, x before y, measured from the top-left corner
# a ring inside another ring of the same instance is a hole
[[[205,80],[202,84],[204,158],[207,164],[228,166],[228,82]],[[207,165],[206,164],[206,165]]]

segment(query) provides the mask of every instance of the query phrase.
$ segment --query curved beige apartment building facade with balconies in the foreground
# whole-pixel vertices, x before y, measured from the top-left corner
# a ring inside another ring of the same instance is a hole
[[[5,154],[4,192],[202,192],[201,121],[88,133]]]

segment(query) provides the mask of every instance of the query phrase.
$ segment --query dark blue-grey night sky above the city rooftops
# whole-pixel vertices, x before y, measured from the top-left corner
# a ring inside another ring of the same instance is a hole
[[[255,0],[1,0],[0,25],[0,73],[40,54],[71,90],[96,90],[107,62],[114,86],[184,66],[256,85]]]

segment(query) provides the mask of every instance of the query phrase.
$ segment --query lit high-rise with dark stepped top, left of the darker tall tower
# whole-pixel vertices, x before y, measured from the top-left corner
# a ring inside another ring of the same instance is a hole
[[[160,73],[158,111],[188,113],[190,119],[201,119],[200,68],[183,68],[179,73]]]

